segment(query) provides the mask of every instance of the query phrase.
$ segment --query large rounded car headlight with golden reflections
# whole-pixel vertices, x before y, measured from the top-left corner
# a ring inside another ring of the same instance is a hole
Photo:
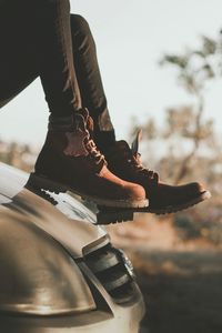
[[[0,311],[52,315],[95,309],[74,260],[52,236],[17,212],[1,213],[0,230]]]

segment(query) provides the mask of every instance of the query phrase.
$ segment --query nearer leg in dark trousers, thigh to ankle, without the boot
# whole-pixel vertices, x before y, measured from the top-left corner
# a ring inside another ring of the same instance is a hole
[[[0,6],[0,41],[1,107],[40,75],[53,115],[70,115],[81,108],[68,0]]]

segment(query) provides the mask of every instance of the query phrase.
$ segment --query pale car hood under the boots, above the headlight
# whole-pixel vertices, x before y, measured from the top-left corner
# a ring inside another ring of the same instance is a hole
[[[68,194],[47,193],[52,204],[24,189],[28,178],[29,174],[0,163],[0,213],[9,210],[26,215],[74,258],[82,256],[84,246],[108,242],[104,229],[93,224],[94,214],[80,201]]]

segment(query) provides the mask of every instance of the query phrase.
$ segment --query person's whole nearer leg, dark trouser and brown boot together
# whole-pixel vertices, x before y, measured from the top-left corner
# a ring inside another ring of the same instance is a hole
[[[12,98],[39,73],[51,111],[32,185],[69,189],[101,205],[147,205],[142,186],[114,176],[89,135],[73,65],[69,1],[21,0],[13,6],[10,1],[4,14],[1,100]]]

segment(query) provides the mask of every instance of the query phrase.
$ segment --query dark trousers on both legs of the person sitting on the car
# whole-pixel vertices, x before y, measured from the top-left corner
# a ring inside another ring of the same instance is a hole
[[[0,108],[37,77],[53,115],[85,107],[114,135],[88,22],[68,0],[0,0]]]

